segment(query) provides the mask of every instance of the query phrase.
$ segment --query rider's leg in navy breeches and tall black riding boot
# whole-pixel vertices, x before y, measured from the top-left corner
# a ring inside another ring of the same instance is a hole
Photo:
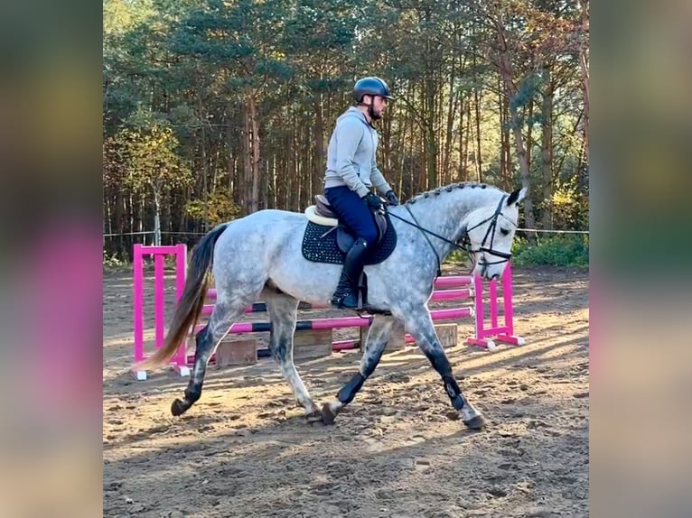
[[[339,284],[334,291],[332,304],[340,308],[358,308],[358,281],[363,271],[369,247],[377,242],[378,228],[370,208],[358,194],[346,186],[324,190],[334,211],[356,236],[341,271]]]

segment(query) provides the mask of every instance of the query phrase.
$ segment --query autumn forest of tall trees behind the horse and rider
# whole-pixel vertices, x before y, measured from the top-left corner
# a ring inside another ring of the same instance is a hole
[[[399,198],[529,188],[515,262],[588,264],[588,1],[104,0],[104,262],[323,192],[356,79]]]

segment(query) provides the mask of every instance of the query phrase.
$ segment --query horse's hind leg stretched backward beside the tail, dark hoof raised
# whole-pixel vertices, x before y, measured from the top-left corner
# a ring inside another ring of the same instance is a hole
[[[229,332],[230,326],[243,314],[246,306],[245,301],[217,301],[209,323],[195,337],[194,366],[190,381],[185,389],[185,397],[173,401],[171,405],[173,415],[181,415],[200,399],[201,385],[204,383],[204,375],[207,372],[207,364],[211,354],[221,338]]]

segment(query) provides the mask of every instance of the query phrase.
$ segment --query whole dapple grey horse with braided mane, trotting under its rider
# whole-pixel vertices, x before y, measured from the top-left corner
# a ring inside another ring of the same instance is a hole
[[[307,261],[301,250],[303,214],[266,209],[221,224],[201,238],[192,253],[182,298],[173,316],[164,346],[134,368],[164,365],[196,323],[211,269],[217,288],[216,306],[209,323],[196,336],[192,375],[183,399],[175,399],[173,415],[187,411],[200,399],[207,363],[230,326],[254,301],[267,303],[271,320],[269,350],[281,367],[295,399],[308,421],[331,424],[372,375],[396,322],[425,353],[442,377],[452,405],[473,430],[485,424],[482,413],[463,396],[452,366],[435,334],[427,302],[433,292],[439,263],[455,247],[472,257],[473,272],[486,280],[498,279],[510,260],[526,189],[504,192],[478,183],[457,183],[419,194],[407,203],[389,207],[397,246],[386,260],[365,267],[368,299],[377,308],[360,361],[360,371],[341,387],[336,399],[319,408],[308,393],[293,360],[293,338],[299,301],[327,303],[341,273],[338,264]]]

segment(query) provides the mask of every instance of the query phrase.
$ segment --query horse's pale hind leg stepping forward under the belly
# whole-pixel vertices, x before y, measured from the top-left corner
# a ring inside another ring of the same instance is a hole
[[[303,380],[295,368],[293,359],[293,339],[295,320],[297,319],[298,301],[293,297],[273,291],[264,291],[272,331],[269,334],[269,352],[281,368],[281,375],[290,385],[295,400],[303,405],[308,419],[321,419],[321,414],[307,392]]]

